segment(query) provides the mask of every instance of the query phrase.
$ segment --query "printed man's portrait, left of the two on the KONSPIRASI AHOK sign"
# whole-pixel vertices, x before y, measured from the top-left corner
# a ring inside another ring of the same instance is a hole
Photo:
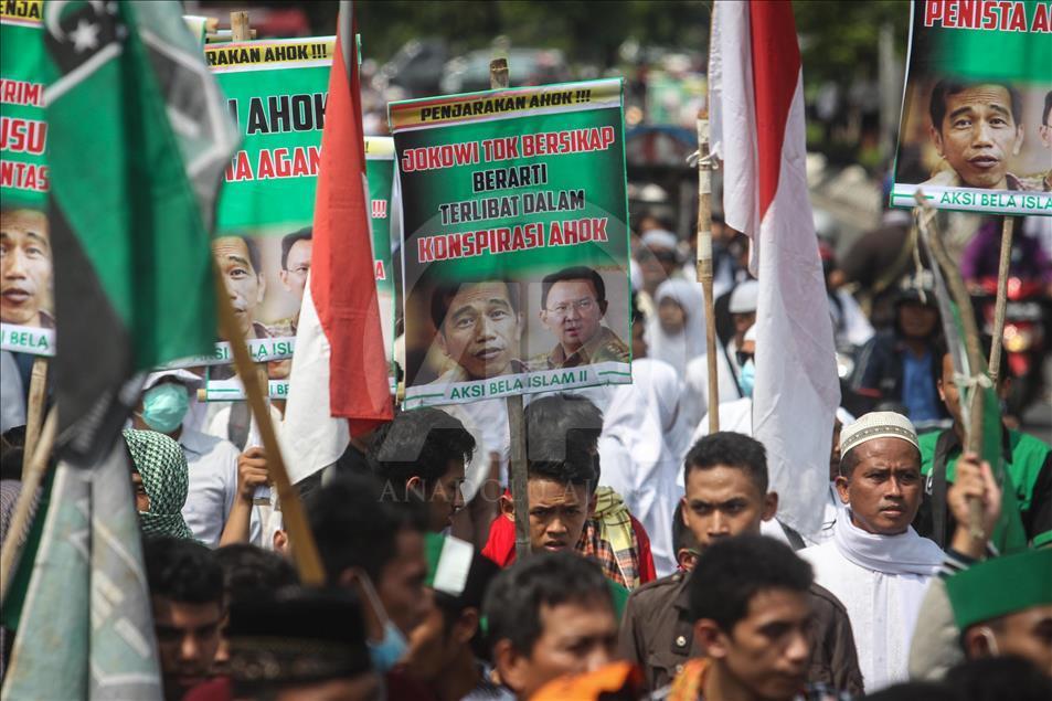
[[[435,341],[456,365],[436,382],[470,382],[523,372],[519,285],[485,280],[439,285],[431,299]]]

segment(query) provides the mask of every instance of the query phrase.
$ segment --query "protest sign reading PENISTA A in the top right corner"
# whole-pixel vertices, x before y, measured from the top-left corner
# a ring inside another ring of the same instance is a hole
[[[1052,6],[914,0],[891,204],[1052,215]]]

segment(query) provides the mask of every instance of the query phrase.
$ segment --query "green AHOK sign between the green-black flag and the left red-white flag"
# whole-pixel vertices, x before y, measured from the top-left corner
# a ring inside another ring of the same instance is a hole
[[[205,46],[242,146],[224,174],[212,252],[253,358],[293,353],[310,269],[332,38]],[[212,363],[229,355],[217,348]],[[200,359],[198,359],[200,360]],[[288,376],[288,363],[269,368]],[[227,379],[230,370],[213,369]]]

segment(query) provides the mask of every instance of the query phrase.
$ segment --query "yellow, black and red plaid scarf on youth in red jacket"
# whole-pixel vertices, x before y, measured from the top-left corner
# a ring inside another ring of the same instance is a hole
[[[639,586],[639,542],[628,508],[609,487],[599,487],[595,496],[595,516],[585,521],[577,552],[598,562],[607,580],[635,590]]]

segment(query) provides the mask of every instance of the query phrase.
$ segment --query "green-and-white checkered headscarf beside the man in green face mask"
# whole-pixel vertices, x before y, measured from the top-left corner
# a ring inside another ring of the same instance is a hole
[[[190,486],[190,470],[182,448],[156,431],[126,428],[124,436],[131,464],[141,477],[142,491],[146,492],[145,500],[138,490],[136,495],[142,534],[192,540],[193,533],[182,518]]]

